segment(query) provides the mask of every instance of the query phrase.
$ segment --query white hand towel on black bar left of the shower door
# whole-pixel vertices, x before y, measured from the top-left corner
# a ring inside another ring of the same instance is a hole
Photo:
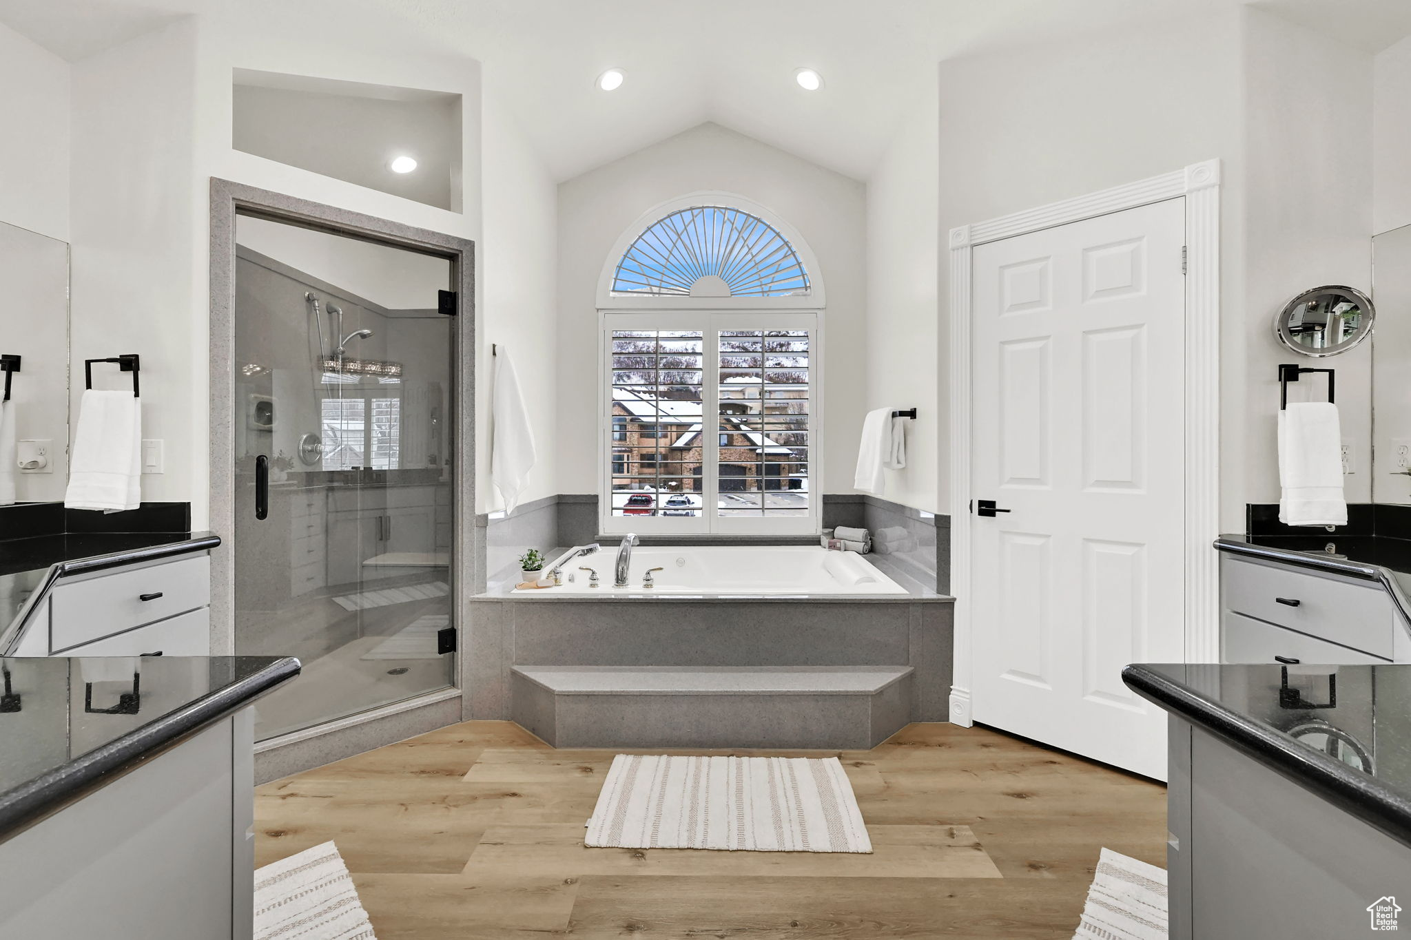
[[[143,502],[143,400],[131,392],[95,392],[79,402],[69,458],[68,509],[109,513]]]

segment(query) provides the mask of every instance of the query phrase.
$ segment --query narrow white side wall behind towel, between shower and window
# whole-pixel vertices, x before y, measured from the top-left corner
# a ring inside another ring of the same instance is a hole
[[[499,344],[514,359],[529,412],[538,462],[519,496],[525,503],[559,492],[559,412],[562,389],[557,355],[559,190],[549,169],[531,149],[492,82],[484,100],[484,248],[480,252],[480,400],[491,402],[491,381]],[[581,396],[570,396],[579,399]],[[567,407],[567,406],[566,406]],[[488,410],[483,417],[490,431]],[[490,438],[480,448],[481,509],[502,509],[490,478]]]

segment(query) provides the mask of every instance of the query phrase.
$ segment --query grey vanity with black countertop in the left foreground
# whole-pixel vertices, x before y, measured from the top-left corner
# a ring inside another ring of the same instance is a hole
[[[248,939],[274,657],[0,660],[0,936]]]

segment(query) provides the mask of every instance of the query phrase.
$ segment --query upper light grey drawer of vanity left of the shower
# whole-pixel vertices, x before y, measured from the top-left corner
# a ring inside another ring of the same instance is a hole
[[[144,596],[148,599],[143,600]],[[210,559],[206,555],[61,583],[51,600],[49,650],[61,653],[207,606]]]

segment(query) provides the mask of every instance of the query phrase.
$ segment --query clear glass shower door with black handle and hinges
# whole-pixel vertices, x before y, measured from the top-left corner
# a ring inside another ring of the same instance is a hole
[[[237,655],[267,740],[454,682],[449,259],[237,216]]]

